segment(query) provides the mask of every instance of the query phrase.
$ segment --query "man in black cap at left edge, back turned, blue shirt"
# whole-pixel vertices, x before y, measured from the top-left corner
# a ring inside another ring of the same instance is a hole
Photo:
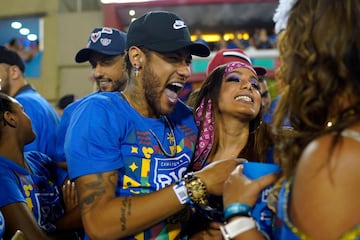
[[[59,116],[53,106],[27,83],[25,65],[14,51],[0,46],[1,92],[14,97],[30,117],[36,138],[25,145],[24,151],[39,151],[54,157],[55,133]]]

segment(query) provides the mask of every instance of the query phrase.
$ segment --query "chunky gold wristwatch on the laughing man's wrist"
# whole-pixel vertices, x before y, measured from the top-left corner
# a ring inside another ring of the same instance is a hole
[[[190,200],[196,204],[206,205],[208,191],[203,181],[196,177],[193,172],[187,173],[184,176],[184,181]]]

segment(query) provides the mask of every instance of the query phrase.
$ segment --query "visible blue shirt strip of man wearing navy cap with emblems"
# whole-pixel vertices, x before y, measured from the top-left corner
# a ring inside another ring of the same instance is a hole
[[[60,123],[56,129],[56,149],[55,149],[55,161],[58,162],[66,162],[65,151],[64,151],[64,143],[65,143],[65,135],[66,131],[69,127],[70,118],[74,109],[86,98],[89,96],[96,94],[97,92],[93,92],[75,102],[69,104],[65,109],[60,118]]]

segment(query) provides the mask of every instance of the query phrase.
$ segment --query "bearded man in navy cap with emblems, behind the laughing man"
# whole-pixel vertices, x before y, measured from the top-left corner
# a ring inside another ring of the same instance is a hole
[[[56,134],[56,157],[58,163],[66,168],[64,141],[66,130],[74,109],[86,98],[99,92],[122,91],[128,81],[124,69],[126,33],[115,28],[95,28],[88,39],[86,48],[79,50],[75,56],[77,63],[89,61],[92,67],[92,78],[96,81],[97,90],[70,104],[64,109]]]

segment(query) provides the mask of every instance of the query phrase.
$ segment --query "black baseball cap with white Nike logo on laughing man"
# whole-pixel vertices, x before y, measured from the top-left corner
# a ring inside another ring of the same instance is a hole
[[[174,52],[189,47],[192,55],[210,55],[210,49],[206,45],[191,41],[184,20],[167,11],[151,11],[134,20],[127,32],[126,48],[131,46],[157,52]]]

